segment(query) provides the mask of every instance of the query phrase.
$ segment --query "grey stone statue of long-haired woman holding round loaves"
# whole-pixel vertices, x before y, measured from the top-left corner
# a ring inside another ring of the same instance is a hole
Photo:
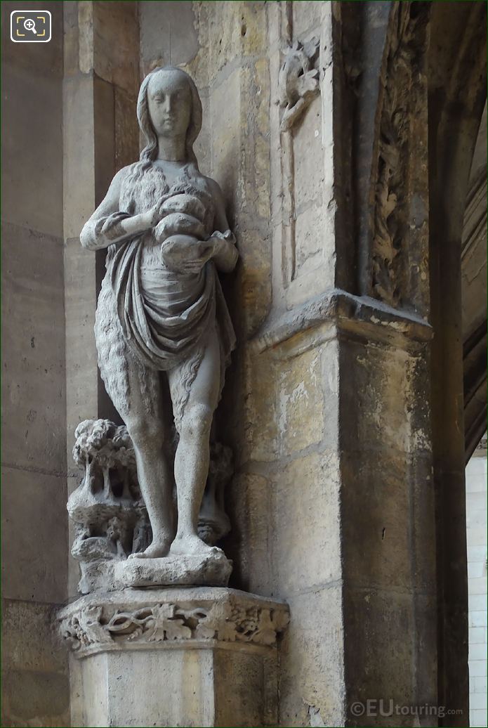
[[[137,119],[147,141],[120,170],[81,232],[89,250],[108,248],[95,323],[98,363],[132,438],[153,541],[140,558],[221,554],[197,534],[209,469],[209,432],[235,339],[217,270],[238,253],[222,192],[199,171],[196,86],[179,68],[143,81]],[[164,456],[161,376],[175,427],[177,525]]]

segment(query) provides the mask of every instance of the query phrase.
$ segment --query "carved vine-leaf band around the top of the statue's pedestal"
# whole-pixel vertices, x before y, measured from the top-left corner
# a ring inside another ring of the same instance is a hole
[[[113,609],[113,608],[112,608]],[[60,622],[61,636],[75,651],[123,641],[161,642],[216,639],[272,646],[288,623],[285,609],[215,602],[183,609],[156,604],[133,612],[107,606],[84,606]]]

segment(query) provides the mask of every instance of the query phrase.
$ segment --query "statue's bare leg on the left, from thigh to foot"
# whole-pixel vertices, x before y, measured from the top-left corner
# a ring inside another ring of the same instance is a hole
[[[157,371],[144,370],[130,358],[127,365],[129,411],[124,413],[124,422],[134,444],[137,479],[153,531],[153,540],[148,548],[144,552],[132,554],[129,558],[158,558],[167,555],[175,535],[172,479],[169,477],[163,449],[160,374]],[[142,395],[143,386],[151,397],[153,413],[148,412],[148,403]],[[113,397],[113,401],[116,405],[116,397]]]

